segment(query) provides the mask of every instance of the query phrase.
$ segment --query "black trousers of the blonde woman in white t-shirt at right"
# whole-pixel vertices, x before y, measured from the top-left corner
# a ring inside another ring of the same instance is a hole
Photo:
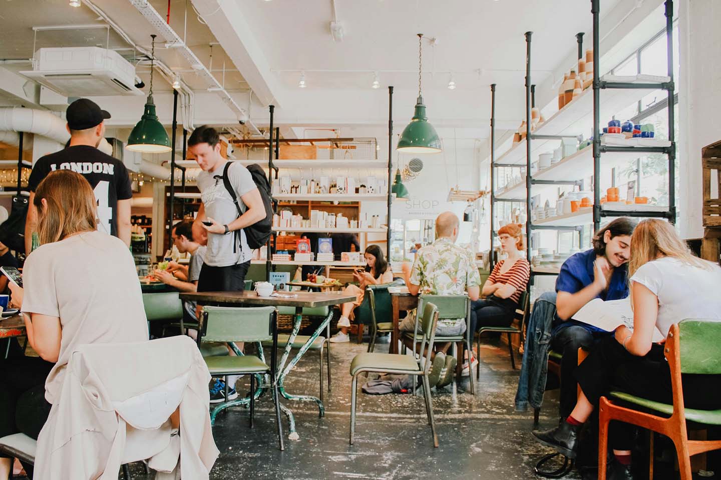
[[[583,394],[598,407],[598,400],[611,390],[625,391],[645,399],[673,403],[671,371],[663,356],[663,345],[653,344],[645,356],[628,353],[613,336],[603,338],[574,372]],[[684,407],[721,408],[721,381],[717,375],[681,375]],[[611,422],[611,448],[631,450],[632,425]]]

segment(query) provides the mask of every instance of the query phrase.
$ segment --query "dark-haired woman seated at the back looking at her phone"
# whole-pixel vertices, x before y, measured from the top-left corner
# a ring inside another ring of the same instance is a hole
[[[363,294],[366,292],[366,286],[377,284],[388,284],[393,281],[393,272],[386,258],[383,256],[383,250],[378,245],[368,245],[366,253],[366,268],[364,270],[356,270],[353,272],[353,279],[358,285],[348,285],[343,289],[344,293],[354,294],[355,302],[348,302],[340,306],[340,320],[338,327],[340,330],[330,338],[333,343],[350,342],[348,329],[350,328],[350,313],[355,307],[363,303]]]

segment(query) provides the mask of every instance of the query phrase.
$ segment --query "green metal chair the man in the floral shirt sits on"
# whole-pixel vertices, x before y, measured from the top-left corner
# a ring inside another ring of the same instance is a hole
[[[463,368],[464,347],[470,352],[473,351],[473,332],[471,332],[471,301],[467,295],[420,295],[418,296],[418,307],[415,316],[415,329],[412,332],[403,332],[404,338],[412,339],[413,350],[416,350],[418,344],[418,323],[420,322],[420,312],[423,312],[423,305],[426,302],[433,302],[438,307],[438,320],[443,319],[466,319],[466,332],[464,335],[454,335],[451,337],[440,337],[435,335],[435,340],[430,342],[429,348],[433,347],[433,343],[452,343],[453,356],[456,357],[456,379],[455,384],[461,379],[461,368]],[[403,347],[405,351],[405,346]],[[421,350],[423,351],[423,350]],[[422,353],[420,354],[423,355]],[[476,394],[475,380],[469,375],[471,384],[471,394]]]

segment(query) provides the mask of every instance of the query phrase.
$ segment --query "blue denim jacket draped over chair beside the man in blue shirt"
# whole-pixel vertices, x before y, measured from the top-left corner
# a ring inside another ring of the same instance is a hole
[[[526,345],[523,348],[521,376],[516,391],[516,412],[525,412],[528,403],[531,407],[539,408],[543,402],[555,314],[556,292],[541,294],[526,327]]]

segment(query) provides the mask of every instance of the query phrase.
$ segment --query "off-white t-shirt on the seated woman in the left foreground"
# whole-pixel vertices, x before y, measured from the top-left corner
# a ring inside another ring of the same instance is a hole
[[[138,273],[123,240],[95,231],[41,245],[25,261],[22,284],[22,311],[59,317],[63,329],[58,361],[45,380],[51,404],[78,345],[148,340]]]

